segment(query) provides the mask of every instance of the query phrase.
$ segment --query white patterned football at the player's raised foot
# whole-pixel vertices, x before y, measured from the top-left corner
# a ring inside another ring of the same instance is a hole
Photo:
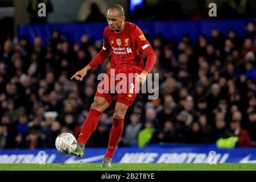
[[[55,146],[61,154],[69,155],[76,150],[77,141],[71,133],[62,133],[56,138]]]

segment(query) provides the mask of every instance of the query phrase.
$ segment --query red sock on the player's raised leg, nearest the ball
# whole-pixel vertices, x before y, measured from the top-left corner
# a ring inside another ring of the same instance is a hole
[[[92,108],[89,110],[88,116],[86,117],[84,124],[82,125],[82,129],[79,134],[79,139],[77,139],[77,142],[86,144],[90,135],[92,135],[93,131],[96,129],[100,117],[100,111]]]

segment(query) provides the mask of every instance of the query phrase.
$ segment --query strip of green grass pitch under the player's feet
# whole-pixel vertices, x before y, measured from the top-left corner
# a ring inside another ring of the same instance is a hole
[[[111,168],[101,168],[100,163],[0,164],[0,171],[256,171],[256,164],[113,163]]]

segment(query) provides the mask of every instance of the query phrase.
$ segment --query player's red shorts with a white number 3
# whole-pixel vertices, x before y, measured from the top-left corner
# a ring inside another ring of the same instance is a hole
[[[135,78],[128,75],[124,79],[115,78],[106,73],[97,86],[95,97],[103,97],[109,104],[117,98],[117,102],[130,106],[136,95]]]

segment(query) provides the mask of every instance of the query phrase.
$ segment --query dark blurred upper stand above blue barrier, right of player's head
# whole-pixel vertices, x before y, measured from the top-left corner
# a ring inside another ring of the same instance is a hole
[[[181,20],[181,19],[236,19],[236,18],[252,18],[256,17],[252,1],[249,0],[222,0],[207,1],[197,0],[195,8],[184,13],[187,4],[180,1],[168,0],[143,0],[141,6],[135,6],[135,10],[130,13],[129,18],[133,20]],[[216,17],[209,16],[209,3],[216,4]],[[191,3],[188,1],[188,3]],[[152,13],[154,12],[154,13]]]

